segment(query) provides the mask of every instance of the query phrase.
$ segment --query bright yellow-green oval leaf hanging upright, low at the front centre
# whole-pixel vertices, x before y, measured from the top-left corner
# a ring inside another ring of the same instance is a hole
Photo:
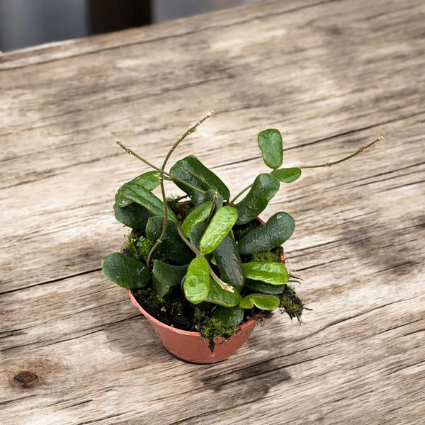
[[[184,295],[193,304],[199,304],[208,296],[210,290],[210,269],[208,261],[202,256],[191,261],[183,283]]]

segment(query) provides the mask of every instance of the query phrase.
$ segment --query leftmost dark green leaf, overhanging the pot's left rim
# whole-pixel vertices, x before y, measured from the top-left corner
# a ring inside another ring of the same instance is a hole
[[[149,270],[144,263],[129,259],[120,252],[106,257],[102,271],[106,278],[126,289],[145,288],[150,280]]]

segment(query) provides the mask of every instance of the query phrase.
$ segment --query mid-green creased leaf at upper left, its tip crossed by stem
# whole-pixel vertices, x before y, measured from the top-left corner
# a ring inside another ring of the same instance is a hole
[[[142,186],[138,186],[131,182],[125,183],[118,189],[117,196],[115,196],[115,203],[120,205],[120,207],[127,205],[122,205],[122,203],[120,203],[120,199],[124,198],[126,201],[130,200],[131,202],[142,205],[142,207],[152,212],[153,215],[164,217],[164,203],[162,203],[162,200]],[[177,222],[176,215],[174,215],[174,212],[172,212],[170,208],[168,208],[168,217],[171,222]]]

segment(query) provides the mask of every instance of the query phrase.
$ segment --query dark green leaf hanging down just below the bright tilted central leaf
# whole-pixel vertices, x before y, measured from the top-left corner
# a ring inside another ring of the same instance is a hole
[[[229,283],[233,288],[241,290],[245,281],[244,269],[242,268],[241,256],[230,233],[214,250],[214,259],[220,271],[221,280]]]

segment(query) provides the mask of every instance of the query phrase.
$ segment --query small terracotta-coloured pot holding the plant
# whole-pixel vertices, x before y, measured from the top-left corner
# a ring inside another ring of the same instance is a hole
[[[130,289],[127,290],[127,293],[132,303],[152,324],[162,345],[174,356],[190,361],[191,363],[215,363],[225,360],[231,354],[236,353],[248,340],[252,329],[254,329],[259,319],[253,318],[242,324],[236,334],[232,335],[229,339],[223,337],[219,339],[215,338],[215,348],[211,352],[208,346],[208,339],[200,336],[199,332],[182,331],[181,329],[159,322],[159,320],[152,317],[140,306]]]

